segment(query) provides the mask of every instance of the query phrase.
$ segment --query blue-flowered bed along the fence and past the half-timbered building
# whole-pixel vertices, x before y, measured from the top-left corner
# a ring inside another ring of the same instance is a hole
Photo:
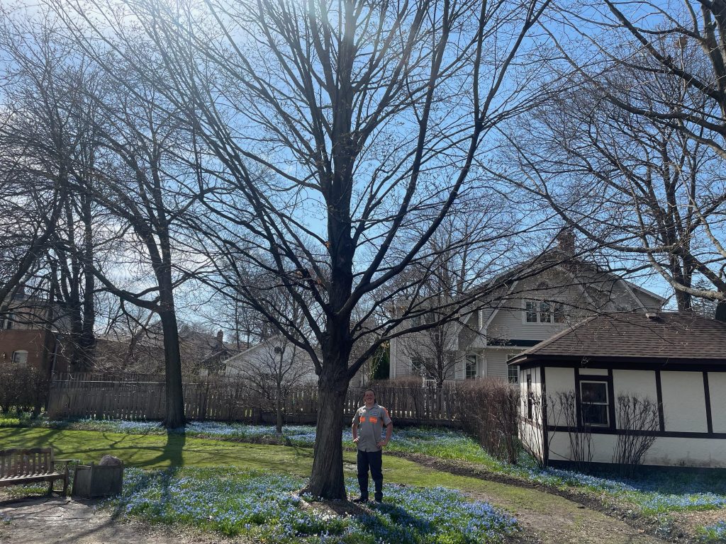
[[[102,430],[129,434],[166,434],[155,422],[60,421],[39,426],[63,429]],[[282,435],[272,426],[195,423],[187,437],[208,437],[232,442],[253,442],[312,447],[312,426],[288,426]],[[349,432],[343,430],[343,447],[353,450]],[[726,529],[726,476],[698,479],[690,474],[664,475],[639,481],[598,478],[572,471],[541,470],[522,459],[521,465],[501,463],[469,437],[447,429],[396,429],[388,454],[408,458],[452,474],[478,477],[510,485],[533,487],[575,500],[588,508],[624,520],[632,527],[673,541],[717,542]],[[709,538],[711,540],[709,540]]]

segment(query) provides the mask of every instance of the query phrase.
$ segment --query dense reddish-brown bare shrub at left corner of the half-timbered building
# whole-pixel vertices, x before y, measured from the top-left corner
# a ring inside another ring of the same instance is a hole
[[[489,455],[516,463],[521,449],[517,434],[518,388],[485,378],[457,382],[452,393],[452,418],[476,436]]]

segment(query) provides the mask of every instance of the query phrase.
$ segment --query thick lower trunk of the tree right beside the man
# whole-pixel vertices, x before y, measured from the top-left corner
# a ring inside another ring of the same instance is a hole
[[[346,500],[343,478],[343,404],[348,391],[344,371],[323,368],[318,380],[318,420],[315,456],[310,482],[305,491],[324,499]]]

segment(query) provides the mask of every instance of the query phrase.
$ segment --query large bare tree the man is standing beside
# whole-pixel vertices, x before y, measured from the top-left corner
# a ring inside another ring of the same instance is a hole
[[[426,262],[431,236],[477,183],[481,142],[539,99],[527,90],[537,74],[507,73],[535,47],[526,36],[547,4],[65,4],[76,7],[65,20],[79,46],[98,62],[117,52],[186,113],[197,140],[180,155],[229,189],[205,195],[197,223],[219,250],[214,260],[242,254],[292,297],[303,289],[314,301],[301,303],[311,341],[285,332],[253,289],[241,291],[319,376],[314,495],[346,496],[348,383],[381,342],[404,333],[396,326],[407,316],[383,317],[393,294],[372,293]],[[150,55],[139,55],[142,40]]]

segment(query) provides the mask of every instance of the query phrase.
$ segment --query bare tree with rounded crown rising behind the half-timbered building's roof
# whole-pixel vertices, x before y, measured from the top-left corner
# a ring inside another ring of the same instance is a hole
[[[621,82],[643,76],[626,67],[608,75]],[[665,95],[685,98],[672,78],[641,78],[641,107],[655,111]],[[674,286],[680,310],[690,310],[693,294],[717,297],[693,285],[695,274],[718,285],[711,268],[720,258],[707,241],[726,203],[717,156],[669,125],[611,104],[579,75],[567,84],[510,139],[511,179],[632,268],[655,268]]]

